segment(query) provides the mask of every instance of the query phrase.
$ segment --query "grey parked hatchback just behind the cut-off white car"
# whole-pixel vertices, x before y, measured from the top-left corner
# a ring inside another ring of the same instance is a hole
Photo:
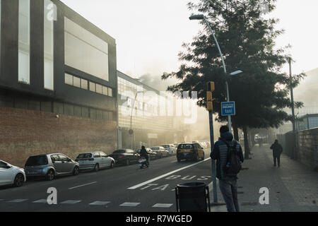
[[[79,164],[63,154],[48,154],[31,156],[25,162],[25,174],[27,177],[45,177],[52,180],[56,176],[79,174]]]

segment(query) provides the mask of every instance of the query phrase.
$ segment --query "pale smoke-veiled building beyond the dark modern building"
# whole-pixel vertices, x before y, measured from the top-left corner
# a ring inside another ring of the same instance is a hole
[[[119,148],[137,149],[141,145],[151,147],[184,141],[184,118],[176,117],[175,109],[170,109],[170,105],[160,108],[163,106],[160,91],[120,71],[117,76]],[[175,101],[175,98],[170,96],[170,100]],[[176,105],[172,106],[175,108]],[[130,129],[134,132],[132,135]]]

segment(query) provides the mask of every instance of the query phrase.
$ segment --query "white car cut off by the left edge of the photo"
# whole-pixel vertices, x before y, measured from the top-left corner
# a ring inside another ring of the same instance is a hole
[[[24,182],[26,182],[24,169],[0,160],[0,186],[8,184],[23,186]]]

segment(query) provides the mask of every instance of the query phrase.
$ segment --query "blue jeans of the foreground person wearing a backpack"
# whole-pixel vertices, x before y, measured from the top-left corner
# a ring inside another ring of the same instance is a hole
[[[237,200],[237,179],[220,179],[218,184],[228,212],[240,212]]]

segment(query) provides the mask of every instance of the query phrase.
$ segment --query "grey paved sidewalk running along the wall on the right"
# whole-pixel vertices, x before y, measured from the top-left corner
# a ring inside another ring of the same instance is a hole
[[[238,198],[242,212],[318,212],[318,172],[281,155],[281,167],[273,167],[269,145],[252,148],[238,175]],[[269,205],[259,203],[259,189],[269,189]],[[213,192],[210,192],[213,202]],[[218,188],[218,203],[224,203]],[[213,206],[212,212],[226,211]]]

